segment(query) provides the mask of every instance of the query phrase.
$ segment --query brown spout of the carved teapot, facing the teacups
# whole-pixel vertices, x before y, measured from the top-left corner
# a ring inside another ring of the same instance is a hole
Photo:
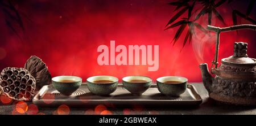
[[[203,77],[203,84],[209,93],[212,92],[213,77],[210,75],[207,63],[200,64],[200,69]]]

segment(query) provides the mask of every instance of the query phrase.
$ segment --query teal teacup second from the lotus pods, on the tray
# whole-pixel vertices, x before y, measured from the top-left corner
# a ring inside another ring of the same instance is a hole
[[[118,78],[113,76],[93,76],[87,80],[90,92],[96,95],[109,95],[117,89]]]

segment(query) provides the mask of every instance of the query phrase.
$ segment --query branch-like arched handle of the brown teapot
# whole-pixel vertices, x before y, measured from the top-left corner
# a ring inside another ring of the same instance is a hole
[[[217,69],[217,67],[218,67],[218,49],[219,49],[219,46],[220,46],[220,33],[221,32],[229,32],[229,31],[237,31],[237,30],[241,30],[241,29],[251,29],[253,31],[256,31],[256,25],[241,24],[241,25],[234,25],[234,26],[225,27],[225,28],[214,27],[214,26],[208,25],[207,29],[209,31],[213,31],[213,32],[217,33],[215,55],[214,55],[214,60],[212,61],[212,68],[213,68],[213,65],[214,65],[214,69]],[[211,68],[211,71],[210,71],[211,73],[213,73],[212,68]]]

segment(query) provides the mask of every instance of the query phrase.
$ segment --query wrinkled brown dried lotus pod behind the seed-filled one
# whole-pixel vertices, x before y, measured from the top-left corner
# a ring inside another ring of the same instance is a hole
[[[42,59],[32,55],[24,65],[24,68],[27,69],[36,80],[36,90],[39,90],[44,85],[51,83],[51,74],[48,71],[46,63]]]

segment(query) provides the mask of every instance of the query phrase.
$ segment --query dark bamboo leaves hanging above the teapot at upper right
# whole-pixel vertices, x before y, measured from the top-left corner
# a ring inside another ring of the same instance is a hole
[[[168,21],[166,24],[166,28],[164,30],[170,29],[170,28],[175,28],[179,27],[177,30],[172,42],[175,45],[176,41],[179,40],[181,34],[183,34],[183,31],[185,27],[188,26],[188,31],[185,34],[185,38],[183,41],[183,47],[185,44],[187,44],[187,41],[189,43],[192,40],[193,34],[195,34],[195,27],[200,29],[200,31],[204,33],[208,33],[207,29],[202,27],[201,24],[196,23],[198,19],[201,18],[201,16],[207,14],[208,15],[208,25],[212,23],[212,15],[215,15],[218,20],[220,20],[224,25],[226,25],[224,19],[222,18],[221,14],[218,12],[218,7],[221,5],[229,4],[232,2],[236,1],[231,1],[231,0],[219,0],[219,1],[214,1],[214,0],[180,0],[176,2],[170,2],[168,5],[171,6],[176,6],[174,11],[178,11],[172,18]],[[191,15],[197,13],[197,10],[195,10],[195,5],[200,6],[200,9],[198,14],[196,15],[195,19],[191,19]],[[254,19],[251,19],[249,15],[251,14],[251,11],[253,10],[253,7],[255,5],[255,0],[250,0],[249,6],[247,7],[246,14],[242,14],[242,12],[238,10],[233,10],[232,12],[232,18],[233,18],[233,24],[237,25],[237,16],[240,16],[240,18],[246,19],[250,21],[253,24],[256,24],[256,21]],[[181,18],[181,20],[176,21],[177,19],[180,18],[180,16],[184,15],[185,12],[188,12],[188,15],[185,16],[185,18]],[[176,21],[176,22],[175,22]],[[189,39],[188,39],[189,38]]]

